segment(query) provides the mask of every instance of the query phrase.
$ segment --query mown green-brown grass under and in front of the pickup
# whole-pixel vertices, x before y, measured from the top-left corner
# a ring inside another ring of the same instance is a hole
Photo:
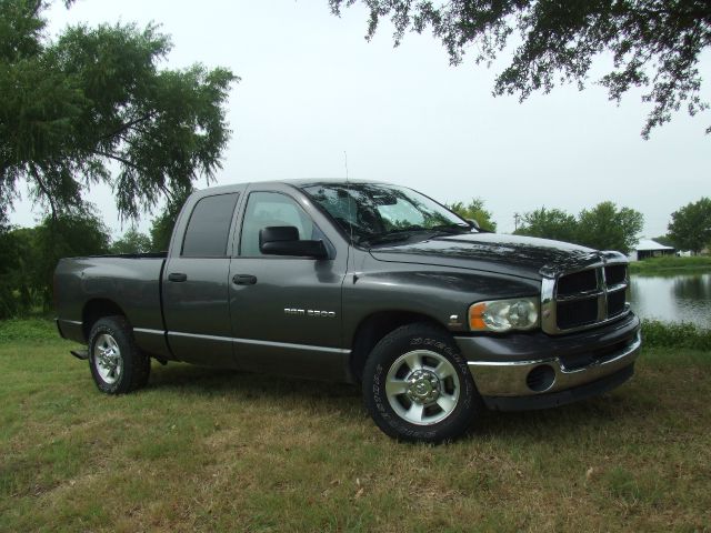
[[[47,322],[0,323],[0,531],[703,531],[711,352],[603,398],[399,444],[352,386],[154,363],[99,394]]]

